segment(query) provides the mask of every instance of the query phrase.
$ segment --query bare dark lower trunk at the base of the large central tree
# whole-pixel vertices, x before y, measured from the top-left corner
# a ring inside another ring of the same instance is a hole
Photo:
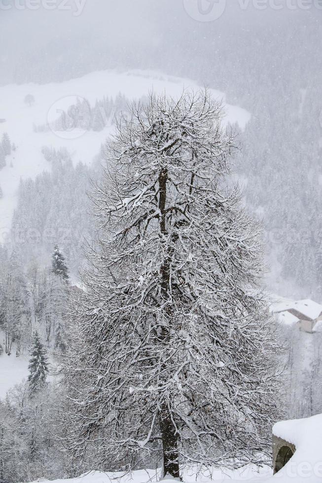
[[[167,407],[160,412],[160,429],[163,447],[163,476],[171,475],[180,478],[178,433]]]

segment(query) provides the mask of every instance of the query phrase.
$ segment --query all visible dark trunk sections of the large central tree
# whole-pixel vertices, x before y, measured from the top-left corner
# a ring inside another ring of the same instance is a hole
[[[163,170],[159,175],[159,209],[161,213],[160,231],[164,239],[167,236],[166,224],[166,200],[167,200],[167,172]],[[161,270],[161,295],[163,303],[169,300],[170,291],[170,256],[165,255]],[[168,315],[171,313],[169,305],[165,305]],[[162,328],[162,341],[168,343],[169,329]],[[159,424],[162,437],[163,448],[163,476],[171,475],[173,478],[180,478],[179,474],[179,452],[178,452],[178,433],[171,417],[169,407],[164,403],[159,414]]]

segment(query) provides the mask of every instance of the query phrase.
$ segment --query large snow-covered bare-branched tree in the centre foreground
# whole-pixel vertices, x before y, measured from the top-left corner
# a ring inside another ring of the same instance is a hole
[[[233,146],[207,91],[152,94],[107,146],[99,242],[63,361],[65,446],[91,464],[162,459],[177,478],[180,463],[238,466],[269,451],[276,343],[260,228],[225,187]]]

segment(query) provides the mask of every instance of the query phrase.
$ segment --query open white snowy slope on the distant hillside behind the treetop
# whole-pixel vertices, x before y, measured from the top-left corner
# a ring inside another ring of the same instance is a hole
[[[17,145],[17,150],[10,158],[7,157],[7,166],[0,171],[0,186],[3,191],[3,198],[0,199],[0,242],[6,240],[10,229],[20,178],[35,177],[44,170],[50,170],[41,148],[66,147],[75,162],[81,160],[91,163],[112,129],[107,127],[98,133],[73,132],[70,139],[65,139],[51,131],[35,133],[34,124],[41,125],[57,119],[59,109],[68,108],[77,98],[85,98],[94,105],[96,99],[104,96],[114,98],[120,92],[129,99],[140,98],[151,90],[166,91],[176,97],[183,88],[197,89],[198,86],[189,79],[169,77],[157,72],[118,73],[108,70],[92,72],[84,77],[56,84],[0,87],[0,119],[5,119],[5,122],[0,123],[0,137],[3,132],[7,132],[11,141]],[[223,93],[214,90],[211,93],[215,98],[225,100]],[[35,97],[36,102],[32,106],[24,103],[28,94]],[[226,113],[226,120],[238,122],[241,128],[250,119],[250,114],[238,106],[227,104]]]

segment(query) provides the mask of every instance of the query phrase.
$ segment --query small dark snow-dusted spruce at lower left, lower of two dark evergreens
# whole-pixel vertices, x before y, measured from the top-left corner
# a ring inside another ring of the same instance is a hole
[[[44,385],[48,373],[46,349],[42,344],[37,331],[34,333],[33,345],[30,354],[31,358],[28,366],[28,381],[31,392],[34,392]]]

